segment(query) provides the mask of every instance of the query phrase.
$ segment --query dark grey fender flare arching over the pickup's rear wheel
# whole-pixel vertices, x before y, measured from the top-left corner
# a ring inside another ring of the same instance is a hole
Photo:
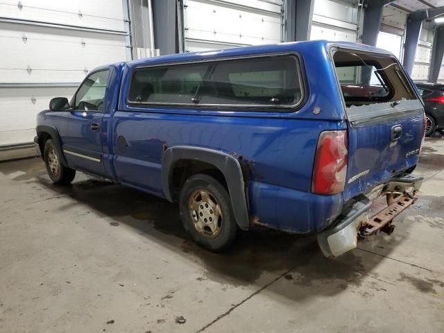
[[[164,153],[162,160],[162,189],[165,197],[173,202],[171,179],[173,166],[179,160],[197,160],[214,165],[219,169],[228,186],[234,219],[239,228],[248,230],[248,208],[245,196],[245,182],[242,176],[241,164],[236,158],[222,151],[195,146],[173,146]]]

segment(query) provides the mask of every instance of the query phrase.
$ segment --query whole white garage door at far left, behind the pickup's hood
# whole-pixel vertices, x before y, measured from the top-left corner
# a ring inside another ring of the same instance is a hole
[[[130,57],[122,0],[3,0],[0,13],[0,148],[33,142],[52,97]]]

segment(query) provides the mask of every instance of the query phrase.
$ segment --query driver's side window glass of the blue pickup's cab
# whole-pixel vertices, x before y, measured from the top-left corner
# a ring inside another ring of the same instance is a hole
[[[74,109],[102,112],[109,75],[110,70],[105,69],[88,76],[78,89],[74,99]]]

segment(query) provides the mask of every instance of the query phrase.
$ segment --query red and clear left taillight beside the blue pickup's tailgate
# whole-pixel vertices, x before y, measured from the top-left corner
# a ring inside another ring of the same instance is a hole
[[[347,131],[327,130],[319,135],[314,157],[311,191],[336,194],[343,191],[347,175]]]

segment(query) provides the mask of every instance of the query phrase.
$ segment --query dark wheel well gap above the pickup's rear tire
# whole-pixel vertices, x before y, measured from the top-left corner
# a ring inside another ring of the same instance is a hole
[[[179,160],[173,166],[171,178],[171,193],[174,199],[180,195],[180,189],[182,189],[185,181],[197,173],[204,173],[205,175],[213,177],[228,191],[225,176],[223,176],[222,171],[213,164],[197,160]]]

